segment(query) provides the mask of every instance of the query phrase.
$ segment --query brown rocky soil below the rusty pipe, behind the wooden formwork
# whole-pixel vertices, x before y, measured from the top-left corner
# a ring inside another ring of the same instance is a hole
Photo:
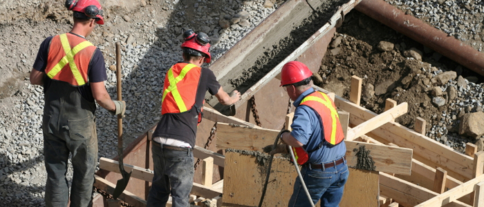
[[[413,128],[416,117],[422,117],[431,124],[435,115],[447,110],[448,103],[439,108],[431,103],[432,86],[426,81],[431,79],[430,72],[454,70],[463,77],[481,77],[446,57],[436,60],[434,52],[422,44],[356,10],[346,14],[343,25],[337,28],[337,37],[343,37],[341,43],[337,48],[328,48],[322,60],[319,75],[324,81],[319,86],[349,99],[351,77],[360,77],[363,89],[371,84],[375,90],[375,95],[363,98],[360,105],[380,114],[384,111],[386,99],[407,102],[407,114],[396,121],[408,128]],[[377,48],[380,41],[393,43],[395,48],[381,52]],[[410,48],[422,51],[422,61],[404,57],[403,51]],[[422,68],[427,72],[423,72]],[[362,97],[364,93],[365,90],[362,90]]]

